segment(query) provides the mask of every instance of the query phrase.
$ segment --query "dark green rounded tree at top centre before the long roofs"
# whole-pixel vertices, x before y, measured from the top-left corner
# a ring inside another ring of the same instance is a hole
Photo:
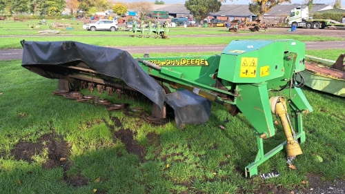
[[[184,6],[197,21],[204,20],[211,12],[219,12],[221,1],[218,0],[186,0]]]

